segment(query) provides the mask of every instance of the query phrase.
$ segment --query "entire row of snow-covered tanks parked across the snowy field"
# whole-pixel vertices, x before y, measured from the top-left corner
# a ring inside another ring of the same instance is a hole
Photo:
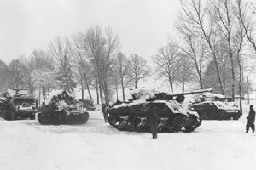
[[[189,93],[167,94],[158,90],[137,89],[131,91],[129,102],[116,102],[106,107],[108,122],[120,131],[149,132],[149,117],[157,114],[158,132],[175,133],[192,132],[201,125],[202,120],[238,120],[241,111],[223,100],[207,99],[185,105],[185,95],[206,94],[212,89],[196,90]],[[223,98],[222,98],[223,99]],[[6,120],[30,118],[43,125],[84,124],[89,113],[83,109],[84,101],[76,100],[72,94],[63,90],[55,94],[47,105],[38,107],[34,98],[16,94],[0,98],[0,116]],[[91,110],[95,107],[90,105]]]

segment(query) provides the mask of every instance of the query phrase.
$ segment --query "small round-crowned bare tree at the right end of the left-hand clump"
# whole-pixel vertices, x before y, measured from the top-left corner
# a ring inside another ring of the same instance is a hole
[[[131,54],[129,60],[131,62],[130,77],[134,82],[135,89],[137,89],[138,81],[148,77],[149,67],[147,61],[137,54]]]

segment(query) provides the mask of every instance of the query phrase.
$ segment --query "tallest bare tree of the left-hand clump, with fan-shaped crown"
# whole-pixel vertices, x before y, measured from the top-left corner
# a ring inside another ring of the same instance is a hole
[[[104,93],[105,101],[108,102],[108,74],[113,56],[119,49],[119,37],[110,28],[103,31],[99,26],[90,27],[84,36],[84,47],[91,62],[96,65],[101,99]]]

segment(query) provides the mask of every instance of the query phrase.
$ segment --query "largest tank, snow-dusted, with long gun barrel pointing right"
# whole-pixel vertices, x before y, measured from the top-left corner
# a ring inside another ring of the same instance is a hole
[[[157,113],[158,133],[189,133],[201,125],[201,118],[196,111],[183,105],[184,95],[205,91],[209,89],[182,94],[166,94],[154,89],[134,90],[129,102],[108,106],[108,122],[121,131],[149,132],[149,116]]]

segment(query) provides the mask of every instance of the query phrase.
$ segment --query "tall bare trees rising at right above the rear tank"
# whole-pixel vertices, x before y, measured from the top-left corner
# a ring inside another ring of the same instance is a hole
[[[191,67],[187,68],[192,69],[200,88],[213,87],[232,99],[235,94],[242,95],[246,84],[243,77],[250,70],[247,57],[256,54],[255,3],[180,0],[180,4],[182,8],[175,24],[178,37],[170,39],[172,48],[177,54],[183,53],[179,58],[188,59]],[[247,49],[251,49],[250,54]],[[176,79],[174,75],[171,77]]]

